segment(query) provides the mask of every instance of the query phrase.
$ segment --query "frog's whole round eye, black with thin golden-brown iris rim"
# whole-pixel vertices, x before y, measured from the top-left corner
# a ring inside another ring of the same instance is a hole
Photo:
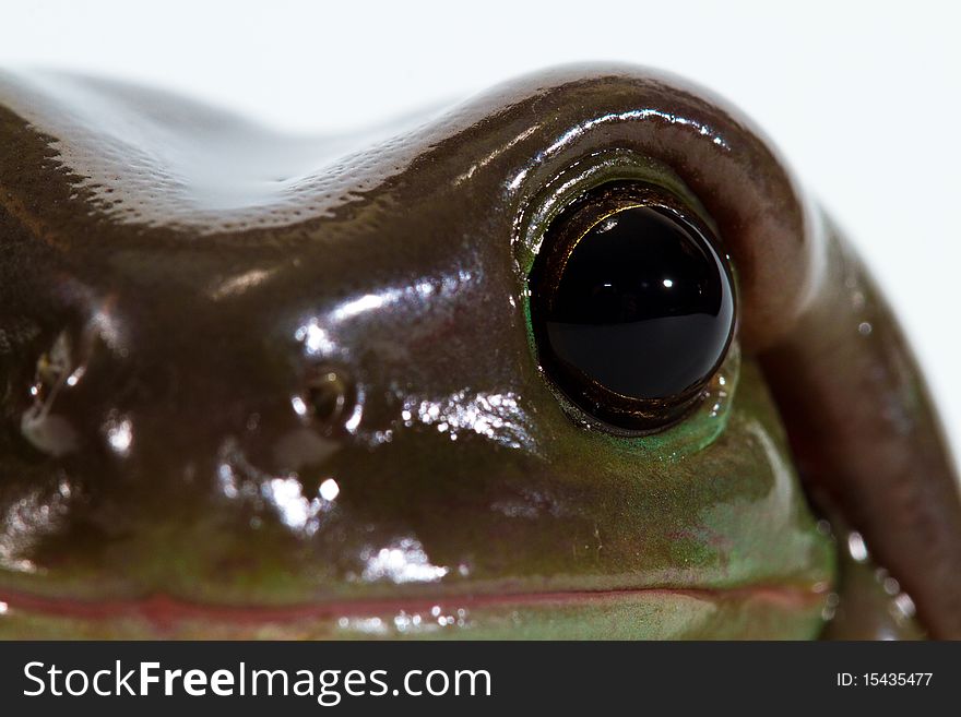
[[[727,263],[666,191],[602,186],[555,218],[530,276],[541,366],[593,418],[645,431],[703,395],[734,332]]]

